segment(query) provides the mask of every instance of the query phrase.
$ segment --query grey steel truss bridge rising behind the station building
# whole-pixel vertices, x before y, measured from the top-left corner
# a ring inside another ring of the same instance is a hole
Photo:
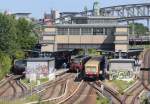
[[[62,12],[61,20],[67,17],[76,15],[92,15],[94,10],[87,10],[82,12]],[[110,7],[103,7],[99,10],[102,16],[117,17],[118,22],[134,23],[136,20],[146,20],[147,27],[150,28],[150,3],[141,4],[126,4]],[[134,26],[132,27],[134,30]],[[132,31],[134,34],[134,31]]]

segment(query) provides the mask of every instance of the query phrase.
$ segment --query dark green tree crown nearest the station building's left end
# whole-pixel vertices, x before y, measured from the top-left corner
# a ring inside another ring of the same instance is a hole
[[[34,25],[26,20],[25,18],[20,18],[17,21],[17,42],[20,44],[21,49],[32,49],[37,43],[36,34],[32,31]]]

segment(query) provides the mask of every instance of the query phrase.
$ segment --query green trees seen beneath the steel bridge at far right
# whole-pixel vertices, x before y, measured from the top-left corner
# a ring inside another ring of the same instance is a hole
[[[132,27],[134,25],[134,33],[136,35],[145,35],[148,32],[148,27],[144,26],[141,23],[131,23],[129,24],[129,33],[132,34]]]

